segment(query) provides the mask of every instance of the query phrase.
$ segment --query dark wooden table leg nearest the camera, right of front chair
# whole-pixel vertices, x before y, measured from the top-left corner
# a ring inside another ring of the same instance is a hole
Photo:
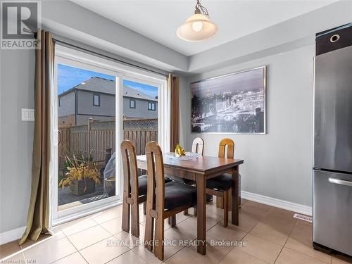
[[[206,177],[196,175],[197,187],[197,252],[206,254]]]

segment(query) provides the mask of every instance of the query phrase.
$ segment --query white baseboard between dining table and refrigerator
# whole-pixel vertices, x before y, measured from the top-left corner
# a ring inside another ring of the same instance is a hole
[[[264,203],[268,206],[274,206],[286,210],[291,210],[296,213],[302,213],[303,215],[312,215],[312,208],[309,206],[303,206],[298,203],[291,203],[290,201],[279,200],[276,198],[263,196],[260,194],[252,194],[248,191],[241,191],[241,198],[256,201],[257,203]]]

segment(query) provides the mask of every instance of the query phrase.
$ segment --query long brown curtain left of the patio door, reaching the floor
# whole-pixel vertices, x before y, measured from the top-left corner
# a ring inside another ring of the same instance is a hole
[[[34,141],[32,185],[27,229],[20,239],[37,241],[49,230],[50,94],[54,85],[54,41],[50,32],[39,31],[41,49],[35,56]]]

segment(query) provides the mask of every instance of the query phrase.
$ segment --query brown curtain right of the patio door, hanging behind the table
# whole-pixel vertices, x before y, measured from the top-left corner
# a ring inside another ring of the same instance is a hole
[[[171,90],[170,151],[174,151],[180,142],[180,77],[169,75],[168,85]]]

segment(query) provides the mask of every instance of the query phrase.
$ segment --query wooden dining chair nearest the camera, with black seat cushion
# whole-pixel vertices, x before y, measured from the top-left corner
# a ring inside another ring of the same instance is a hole
[[[156,142],[146,144],[148,170],[144,245],[164,258],[164,220],[196,204],[196,187],[164,181],[163,153]]]

